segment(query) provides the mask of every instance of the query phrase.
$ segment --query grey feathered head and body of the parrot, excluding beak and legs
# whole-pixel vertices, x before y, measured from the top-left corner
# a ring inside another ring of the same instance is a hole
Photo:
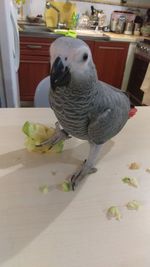
[[[86,66],[81,62],[79,71],[77,57],[84,49],[88,49],[89,59]],[[98,81],[90,50],[83,41],[59,38],[53,43],[51,54],[52,64],[56,56],[67,58],[67,62],[63,62],[68,64],[71,72],[68,86],[58,86],[50,92],[51,106],[64,130],[95,144],[115,136],[128,120],[128,97],[121,90]]]

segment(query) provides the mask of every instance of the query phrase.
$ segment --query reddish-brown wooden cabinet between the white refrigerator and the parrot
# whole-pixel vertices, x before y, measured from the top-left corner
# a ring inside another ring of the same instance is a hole
[[[50,73],[49,47],[54,39],[20,37],[21,101],[33,101],[38,83]]]

